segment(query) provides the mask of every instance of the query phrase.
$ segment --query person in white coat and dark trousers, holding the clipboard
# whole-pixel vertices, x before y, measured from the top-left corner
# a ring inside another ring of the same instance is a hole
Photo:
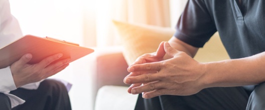
[[[0,0],[0,48],[22,37],[19,24],[10,13],[8,0]],[[66,68],[70,59],[63,54],[49,56],[37,64],[27,64],[32,56],[23,55],[6,68],[0,68],[0,110],[71,110],[66,87],[46,79]],[[1,56],[0,56],[1,57]]]

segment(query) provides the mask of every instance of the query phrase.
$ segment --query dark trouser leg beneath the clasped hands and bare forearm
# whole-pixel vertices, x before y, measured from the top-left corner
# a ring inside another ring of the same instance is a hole
[[[163,95],[143,99],[141,94],[135,110],[245,110],[249,93],[243,87],[216,87],[191,96]]]

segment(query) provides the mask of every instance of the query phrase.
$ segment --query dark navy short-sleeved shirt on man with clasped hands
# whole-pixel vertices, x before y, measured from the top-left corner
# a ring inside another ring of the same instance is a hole
[[[216,31],[231,59],[265,51],[265,0],[189,0],[174,36],[202,47]]]

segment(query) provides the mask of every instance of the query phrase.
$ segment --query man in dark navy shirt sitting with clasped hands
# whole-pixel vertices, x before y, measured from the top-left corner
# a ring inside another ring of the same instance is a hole
[[[174,36],[128,68],[128,92],[142,93],[135,110],[264,110],[264,5],[264,0],[188,0]],[[216,31],[230,59],[192,59]]]

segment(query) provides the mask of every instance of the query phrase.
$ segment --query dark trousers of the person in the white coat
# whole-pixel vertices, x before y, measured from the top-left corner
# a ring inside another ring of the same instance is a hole
[[[5,97],[0,102],[0,110],[71,110],[69,96],[65,86],[55,80],[44,80],[40,83],[37,90],[18,88],[11,91],[10,94],[25,100],[25,103],[10,109],[9,98],[6,99]],[[2,99],[0,98],[0,100]]]

